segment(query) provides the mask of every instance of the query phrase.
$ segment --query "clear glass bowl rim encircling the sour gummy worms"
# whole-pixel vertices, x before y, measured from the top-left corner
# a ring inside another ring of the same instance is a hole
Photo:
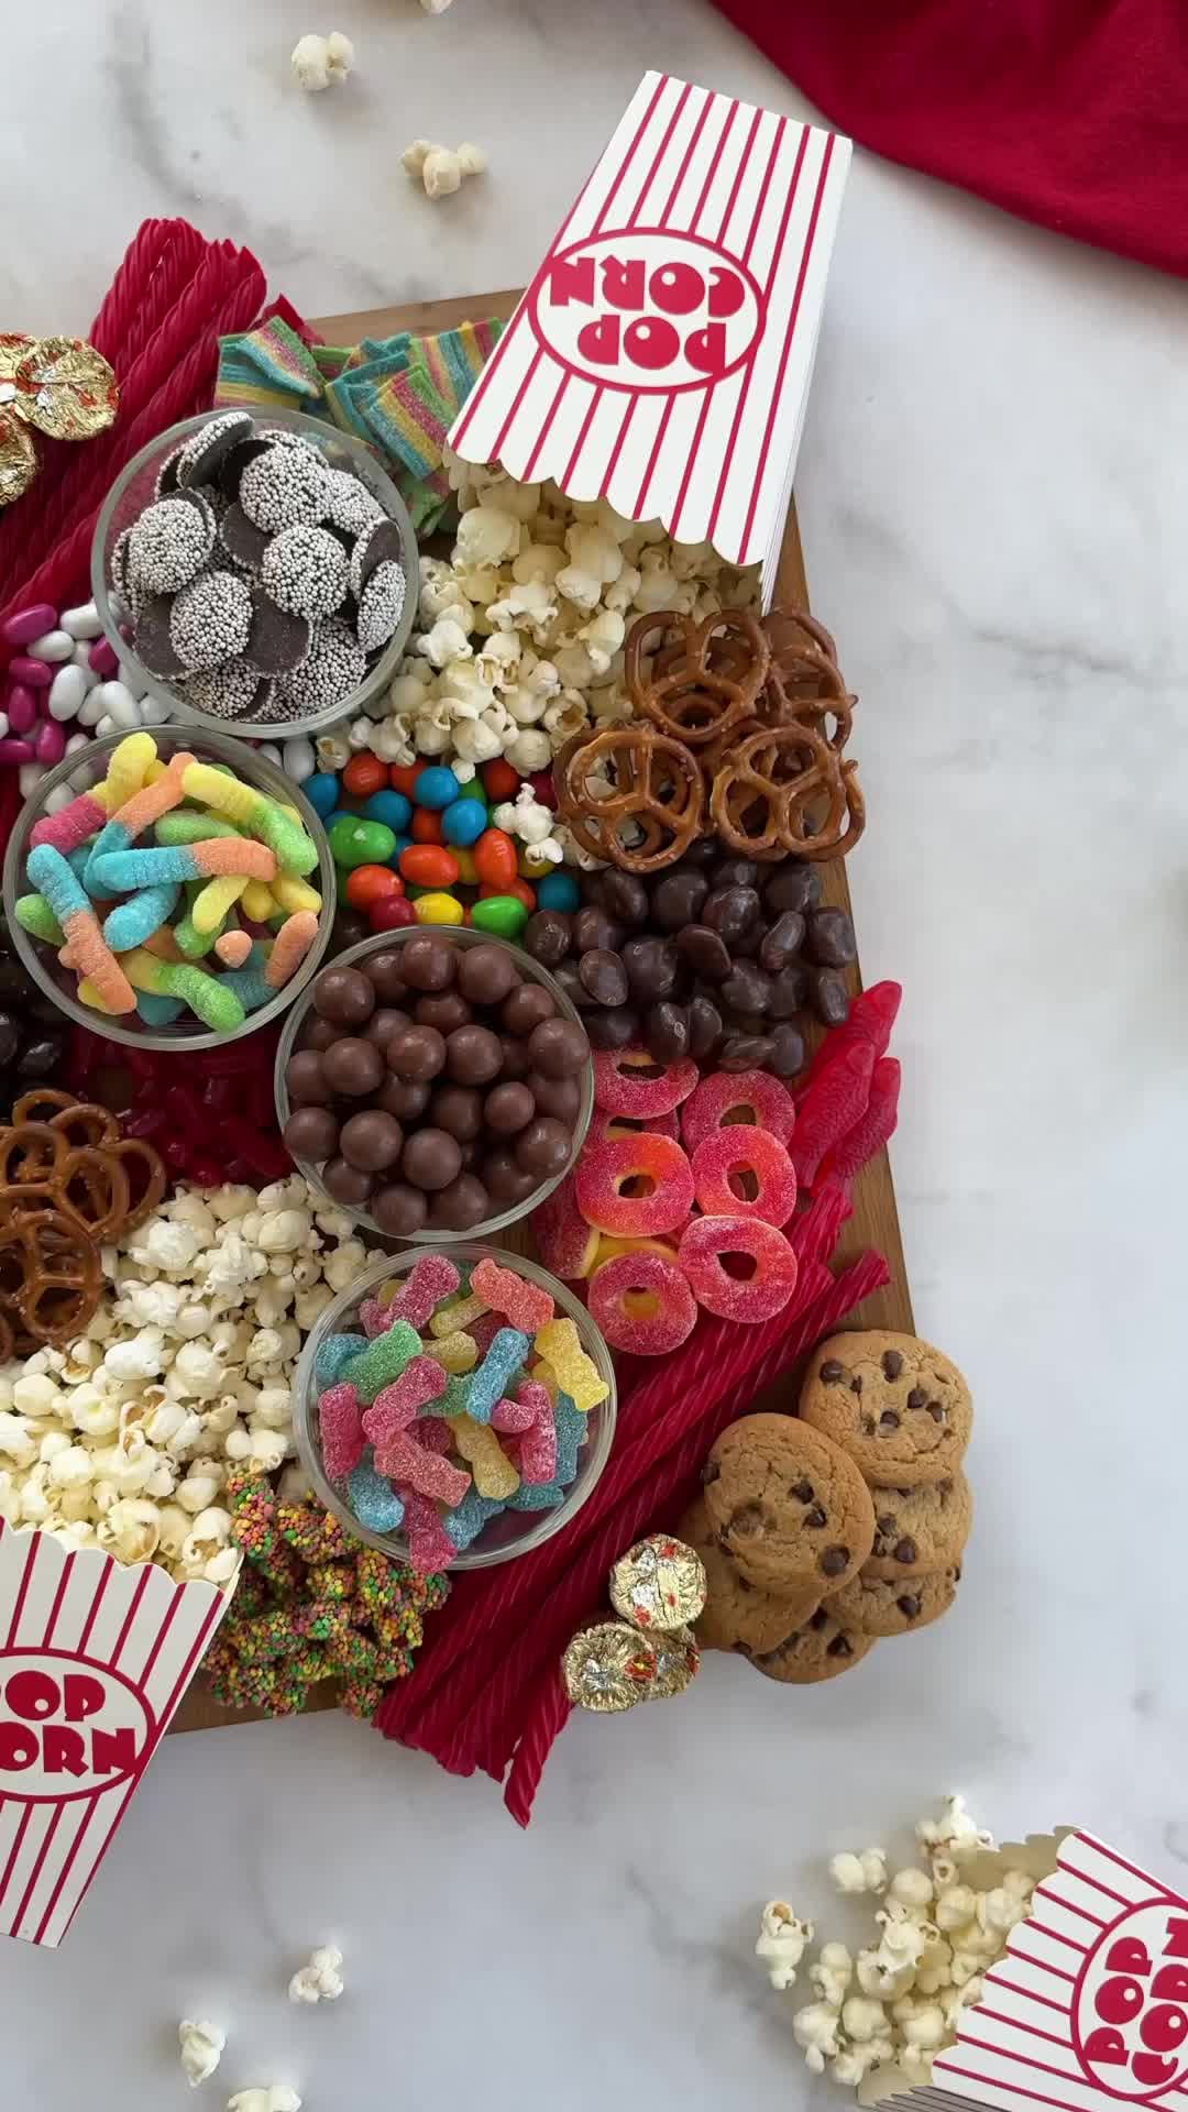
[[[175,1026],[146,1026],[135,1012],[114,1016],[108,1012],[93,1012],[91,1005],[82,1005],[76,997],[76,976],[72,969],[59,965],[57,948],[30,938],[30,934],[17,923],[17,895],[30,893],[25,881],[30,832],[34,822],[40,822],[47,811],[49,794],[57,792],[59,786],[70,786],[72,792],[87,792],[91,786],[99,784],[108,775],[108,758],[112,750],[118,748],[120,741],[127,741],[127,733],[104,733],[99,739],[89,741],[87,748],[66,756],[53,771],[47,771],[36,792],[21,807],[4,853],[4,917],[13,944],[30,976],[38,988],[53,999],[59,1012],[66,1012],[66,1016],[74,1020],[76,1026],[89,1026],[93,1035],[101,1035],[106,1041],[120,1041],[125,1048],[224,1048],[228,1041],[241,1041],[245,1035],[254,1035],[258,1026],[268,1026],[273,1020],[279,1020],[281,1012],[287,1012],[294,997],[300,997],[309,978],[321,967],[321,957],[330,944],[330,929],[334,925],[334,860],[330,855],[321,817],[313,811],[300,786],[296,786],[292,777],[285,777],[285,773],[268,762],[266,756],[258,756],[256,750],[247,748],[243,741],[226,741],[216,733],[192,733],[188,727],[148,727],[146,731],[152,733],[156,754],[163,762],[167,762],[169,756],[188,750],[199,762],[224,765],[235,771],[243,784],[256,786],[258,792],[266,792],[268,798],[281,800],[298,811],[300,826],[317,845],[317,872],[309,874],[309,883],[321,893],[321,917],[317,938],[296,974],[290,976],[283,988],[279,988],[266,1005],[260,1005],[258,1012],[249,1012],[243,1026],[237,1026],[228,1035],[214,1033],[192,1016],[188,1026],[182,1022]]]

